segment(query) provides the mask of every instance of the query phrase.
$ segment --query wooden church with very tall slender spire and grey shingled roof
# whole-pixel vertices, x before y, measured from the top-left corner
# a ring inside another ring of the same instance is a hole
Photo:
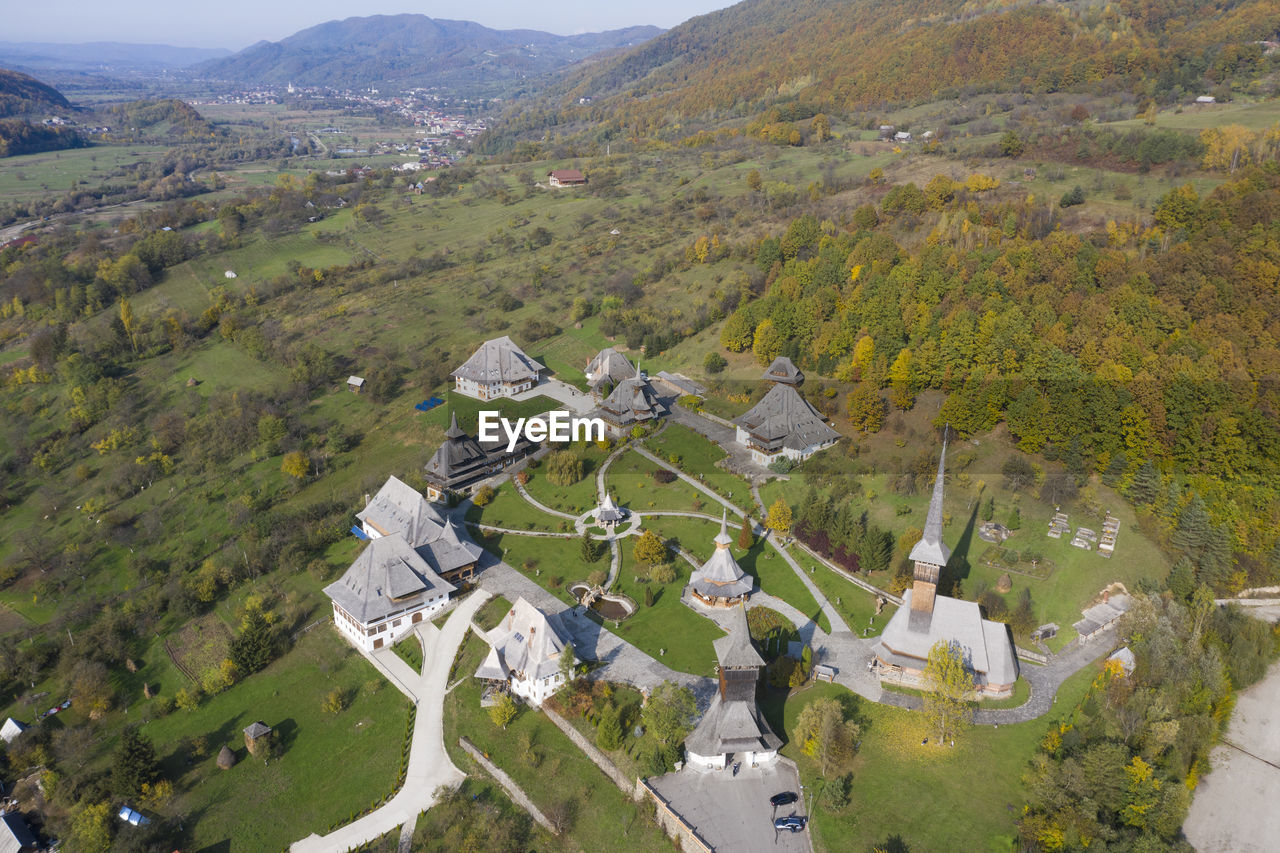
[[[929,649],[940,640],[957,643],[974,685],[983,695],[1007,697],[1018,680],[1018,658],[1009,626],[982,617],[977,602],[938,594],[938,579],[951,548],[942,539],[942,500],[947,446],[942,443],[924,533],[911,548],[911,588],[876,644],[876,671],[883,681],[923,686]]]

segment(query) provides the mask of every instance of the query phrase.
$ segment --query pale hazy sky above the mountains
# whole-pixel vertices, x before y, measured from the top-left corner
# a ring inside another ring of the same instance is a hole
[[[279,41],[298,29],[358,15],[419,13],[476,20],[494,29],[543,29],[561,35],[635,24],[673,27],[735,0],[38,0],[6,4],[4,41],[127,41],[239,50]]]

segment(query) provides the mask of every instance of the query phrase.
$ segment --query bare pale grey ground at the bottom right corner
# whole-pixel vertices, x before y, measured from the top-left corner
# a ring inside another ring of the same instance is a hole
[[[1239,694],[1183,831],[1199,853],[1263,853],[1280,839],[1280,663]]]

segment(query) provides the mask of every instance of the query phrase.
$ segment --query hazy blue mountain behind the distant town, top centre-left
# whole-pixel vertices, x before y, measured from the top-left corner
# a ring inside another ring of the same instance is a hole
[[[512,83],[524,78],[639,45],[662,32],[658,27],[628,27],[557,36],[416,14],[372,15],[330,20],[278,42],[262,41],[233,56],[195,65],[191,73],[242,85],[422,86],[494,95],[511,91]]]

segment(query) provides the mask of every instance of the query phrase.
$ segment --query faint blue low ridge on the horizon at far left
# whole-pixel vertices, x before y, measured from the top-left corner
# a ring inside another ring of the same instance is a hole
[[[229,56],[221,47],[174,47],[93,41],[81,45],[0,41],[0,65],[28,70],[159,72]]]

